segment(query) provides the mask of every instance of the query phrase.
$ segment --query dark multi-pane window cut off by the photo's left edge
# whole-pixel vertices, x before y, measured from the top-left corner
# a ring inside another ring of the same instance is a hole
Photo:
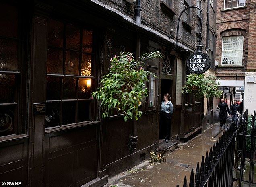
[[[21,134],[21,38],[18,8],[0,2],[0,136]]]

